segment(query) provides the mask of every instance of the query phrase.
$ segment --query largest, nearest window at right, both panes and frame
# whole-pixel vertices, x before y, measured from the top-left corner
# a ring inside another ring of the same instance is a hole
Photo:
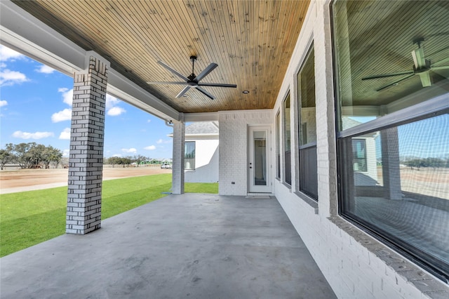
[[[335,1],[340,214],[449,279],[449,1]]]

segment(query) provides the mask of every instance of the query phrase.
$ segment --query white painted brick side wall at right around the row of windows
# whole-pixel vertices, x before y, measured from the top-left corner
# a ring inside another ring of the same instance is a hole
[[[290,192],[279,180],[274,181],[276,198],[338,298],[449,298],[447,284],[435,279],[337,215],[329,2],[311,1],[295,53],[272,112],[274,119],[282,105],[283,97],[295,86],[296,73],[313,39],[316,55],[319,213],[316,214],[312,206]],[[290,94],[295,98],[297,96],[295,91]],[[295,117],[291,119],[291,127],[295,128]],[[292,144],[297,142],[296,137],[296,132],[293,132]],[[274,159],[274,153],[272,157]],[[296,159],[292,160],[294,169]],[[293,184],[295,182],[297,180],[293,180]],[[296,186],[293,185],[292,189],[296,190]]]

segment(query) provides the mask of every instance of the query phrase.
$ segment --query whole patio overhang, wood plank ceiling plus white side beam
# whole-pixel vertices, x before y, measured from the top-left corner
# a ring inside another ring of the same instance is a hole
[[[73,76],[93,51],[110,63],[107,93],[166,120],[216,120],[209,112],[272,109],[309,1],[1,1],[1,43]],[[191,88],[158,61],[187,77],[189,56],[204,81],[237,88]],[[249,91],[249,93],[242,93]],[[199,117],[199,113],[206,114]]]

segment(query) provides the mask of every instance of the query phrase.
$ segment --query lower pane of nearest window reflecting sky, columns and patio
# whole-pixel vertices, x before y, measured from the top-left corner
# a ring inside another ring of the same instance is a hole
[[[345,138],[343,148],[344,213],[449,264],[449,114]]]

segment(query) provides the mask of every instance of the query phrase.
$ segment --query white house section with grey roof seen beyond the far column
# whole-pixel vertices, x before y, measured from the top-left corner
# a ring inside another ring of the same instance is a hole
[[[218,182],[218,121],[185,127],[184,163],[185,182]]]

